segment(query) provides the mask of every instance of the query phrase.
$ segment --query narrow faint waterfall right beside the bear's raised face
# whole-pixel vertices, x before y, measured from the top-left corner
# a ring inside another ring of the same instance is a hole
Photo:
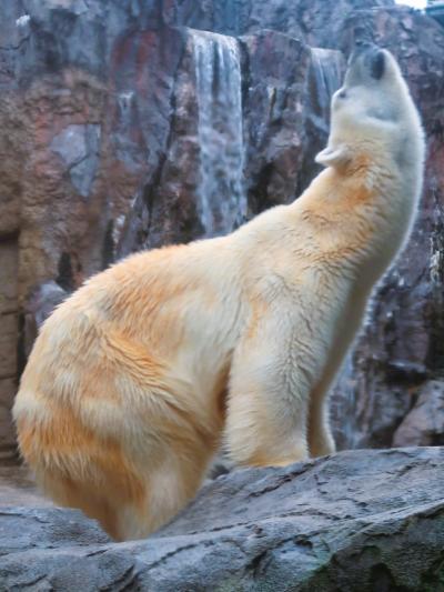
[[[345,70],[341,51],[312,48],[312,104],[319,117],[317,126],[327,131],[332,94],[341,87]]]

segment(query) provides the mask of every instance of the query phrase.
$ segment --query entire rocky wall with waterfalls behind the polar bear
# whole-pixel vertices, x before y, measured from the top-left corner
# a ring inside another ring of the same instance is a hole
[[[413,237],[334,390],[336,439],[444,444],[444,29],[391,0],[4,0],[0,463],[53,305],[132,251],[297,197],[357,38],[398,58],[428,158]]]

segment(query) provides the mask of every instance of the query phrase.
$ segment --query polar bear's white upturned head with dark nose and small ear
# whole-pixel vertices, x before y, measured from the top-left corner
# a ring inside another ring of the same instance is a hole
[[[332,98],[331,132],[316,157],[324,167],[359,167],[371,154],[405,168],[422,165],[420,117],[393,56],[370,42],[353,51],[344,84]]]

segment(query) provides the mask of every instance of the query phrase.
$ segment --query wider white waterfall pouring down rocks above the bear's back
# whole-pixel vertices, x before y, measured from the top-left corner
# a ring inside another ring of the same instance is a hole
[[[231,232],[246,215],[243,189],[241,64],[238,41],[193,31],[200,144],[198,209],[206,237]]]

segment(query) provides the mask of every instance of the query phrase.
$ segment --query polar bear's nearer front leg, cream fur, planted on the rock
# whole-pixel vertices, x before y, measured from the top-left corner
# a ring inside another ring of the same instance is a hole
[[[292,317],[256,320],[233,354],[225,442],[240,465],[286,465],[309,458],[310,378],[297,363]]]

